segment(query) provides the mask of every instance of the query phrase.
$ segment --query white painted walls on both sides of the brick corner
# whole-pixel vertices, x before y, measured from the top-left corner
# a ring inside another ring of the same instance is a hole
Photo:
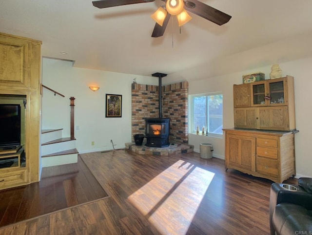
[[[242,75],[261,71],[269,79],[272,64],[280,64],[283,76],[294,76],[296,128],[295,134],[297,177],[312,177],[312,144],[310,117],[312,90],[312,34],[297,36],[284,41],[264,45],[249,51],[218,58],[215,61],[169,74],[163,85],[181,81],[189,82],[189,94],[223,92],[223,127],[234,127],[233,84],[242,83]],[[112,73],[91,69],[73,68],[70,62],[43,59],[42,83],[66,97],[54,96],[44,90],[42,98],[42,128],[69,130],[69,97],[75,100],[75,130],[79,152],[111,150],[110,140],[116,148],[124,148],[131,141],[131,83],[157,85],[153,77]],[[97,92],[88,86],[98,85]],[[105,93],[122,95],[122,118],[105,118]],[[62,104],[62,105],[61,105]],[[50,107],[53,107],[50,109]],[[56,111],[57,110],[57,111]],[[91,146],[95,141],[95,146]],[[199,152],[200,143],[214,145],[213,155],[224,159],[224,139],[209,136],[189,135],[189,144]]]

